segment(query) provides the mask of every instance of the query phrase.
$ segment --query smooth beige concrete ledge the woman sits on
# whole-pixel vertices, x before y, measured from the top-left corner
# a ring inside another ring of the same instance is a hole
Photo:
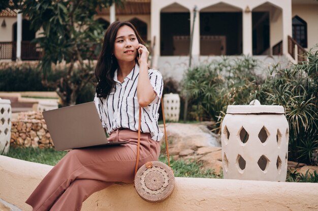
[[[0,198],[22,210],[49,165],[0,156]],[[132,184],[115,184],[91,195],[82,210],[318,210],[318,184],[176,178],[171,197],[148,203]]]

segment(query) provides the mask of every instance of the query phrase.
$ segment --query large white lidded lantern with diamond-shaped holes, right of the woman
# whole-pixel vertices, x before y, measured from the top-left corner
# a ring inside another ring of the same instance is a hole
[[[284,182],[289,126],[280,105],[229,105],[222,122],[225,179]]]

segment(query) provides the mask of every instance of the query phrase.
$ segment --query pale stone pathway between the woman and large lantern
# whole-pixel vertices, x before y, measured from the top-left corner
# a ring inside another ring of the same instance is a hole
[[[208,129],[211,124],[214,123],[167,123],[169,154],[173,159],[198,161],[203,164],[203,169],[214,169],[216,174],[220,174],[222,170],[220,138]],[[163,125],[161,130],[164,131]]]

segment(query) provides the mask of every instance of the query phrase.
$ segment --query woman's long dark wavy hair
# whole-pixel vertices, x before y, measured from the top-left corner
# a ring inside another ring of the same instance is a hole
[[[98,97],[107,97],[111,89],[115,86],[114,73],[118,68],[118,62],[116,57],[113,55],[114,44],[118,29],[124,25],[131,27],[136,34],[138,42],[144,45],[143,40],[132,23],[115,21],[110,24],[105,32],[102,51],[99,55],[95,68],[95,77],[98,82],[96,86],[96,93]],[[138,63],[137,56],[135,61]]]

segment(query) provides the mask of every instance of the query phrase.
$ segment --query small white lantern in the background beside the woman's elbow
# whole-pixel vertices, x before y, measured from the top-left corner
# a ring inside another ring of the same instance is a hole
[[[179,121],[180,97],[178,94],[164,94],[165,118],[169,121]]]

